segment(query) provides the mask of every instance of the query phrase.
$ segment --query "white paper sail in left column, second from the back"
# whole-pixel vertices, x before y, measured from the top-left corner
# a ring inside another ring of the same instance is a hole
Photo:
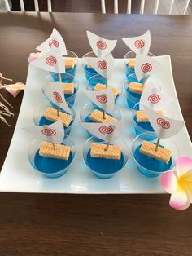
[[[45,55],[42,55],[37,60],[33,60],[31,64],[46,71],[65,73],[63,57],[54,46]]]

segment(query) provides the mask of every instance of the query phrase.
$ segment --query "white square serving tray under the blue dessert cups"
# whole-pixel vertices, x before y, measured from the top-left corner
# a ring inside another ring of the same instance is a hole
[[[154,77],[160,82],[164,92],[176,99],[169,108],[174,111],[174,117],[183,119],[181,108],[177,99],[177,92],[172,77],[172,66],[169,55],[159,56],[157,60],[164,65],[165,73],[161,77]],[[131,156],[131,143],[135,138],[133,131],[132,111],[128,108],[125,92],[120,95],[117,106],[120,108],[125,121],[122,138],[129,146],[129,161],[124,169],[111,179],[98,179],[91,174],[82,159],[82,147],[87,139],[85,130],[80,126],[80,109],[89,102],[85,98],[86,79],[81,68],[81,59],[76,71],[76,80],[80,83],[76,95],[74,108],[76,121],[73,124],[71,138],[76,144],[76,157],[68,172],[59,179],[49,179],[39,174],[28,161],[28,145],[33,136],[22,130],[24,126],[33,126],[33,111],[38,104],[46,101],[41,93],[41,84],[48,73],[34,68],[29,64],[26,90],[20,108],[20,115],[15,126],[7,157],[0,174],[1,192],[37,192],[37,193],[81,193],[81,194],[124,194],[124,193],[164,193],[159,186],[159,179],[146,178],[137,171]],[[116,59],[116,71],[111,78],[111,85],[124,82],[124,60]],[[7,130],[8,132],[8,130]],[[181,156],[192,156],[192,146],[186,128],[176,135],[173,140],[179,145]]]

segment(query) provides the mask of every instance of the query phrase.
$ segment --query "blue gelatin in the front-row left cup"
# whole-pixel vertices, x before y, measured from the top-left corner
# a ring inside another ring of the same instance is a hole
[[[52,157],[41,157],[38,150],[34,157],[34,165],[37,170],[47,175],[48,177],[58,178],[59,176],[65,174],[67,167],[72,162],[72,158],[72,152],[70,152],[68,160]]]

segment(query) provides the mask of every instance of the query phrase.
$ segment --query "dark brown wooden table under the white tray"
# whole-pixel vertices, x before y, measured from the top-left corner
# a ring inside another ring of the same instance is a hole
[[[104,38],[151,30],[151,52],[169,54],[181,110],[192,135],[192,16],[0,14],[0,72],[25,82],[27,57],[53,27],[69,50],[90,51],[85,31]],[[115,57],[128,51],[118,41]],[[0,169],[23,93],[13,99],[12,125],[0,123]],[[0,255],[192,255],[192,207],[172,210],[168,195],[52,195],[0,193]]]

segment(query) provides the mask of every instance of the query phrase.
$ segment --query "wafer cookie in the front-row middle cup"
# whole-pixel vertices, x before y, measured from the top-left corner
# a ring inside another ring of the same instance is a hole
[[[120,146],[107,145],[107,144],[101,144],[101,143],[92,143],[90,155],[91,157],[120,160]]]

